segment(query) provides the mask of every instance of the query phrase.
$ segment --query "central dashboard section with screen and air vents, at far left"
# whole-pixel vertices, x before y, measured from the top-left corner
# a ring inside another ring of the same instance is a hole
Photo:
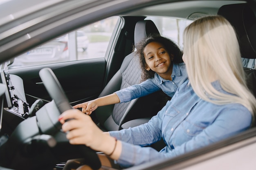
[[[6,87],[0,97],[0,135],[9,135],[21,121],[29,117],[30,108],[23,80],[17,75],[9,74],[7,62],[0,66],[0,84]]]

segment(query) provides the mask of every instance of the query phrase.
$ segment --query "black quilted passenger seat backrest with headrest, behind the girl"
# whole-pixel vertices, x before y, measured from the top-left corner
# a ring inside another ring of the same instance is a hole
[[[155,24],[151,20],[141,20],[135,25],[135,48],[136,44],[150,34],[159,34]],[[141,68],[139,58],[135,52],[125,57],[119,71],[110,79],[99,97],[114,93],[128,86],[139,84],[141,81]],[[102,130],[119,130],[120,122],[126,116],[130,108],[136,103],[137,99],[130,102],[120,103],[110,106],[102,106],[94,111]]]

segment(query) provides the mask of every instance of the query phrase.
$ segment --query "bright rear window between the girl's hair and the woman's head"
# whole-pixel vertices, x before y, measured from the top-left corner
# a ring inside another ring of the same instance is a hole
[[[192,20],[179,20],[174,18],[147,17],[145,20],[152,20],[160,34],[166,38],[170,38],[180,47],[183,47],[183,31]]]

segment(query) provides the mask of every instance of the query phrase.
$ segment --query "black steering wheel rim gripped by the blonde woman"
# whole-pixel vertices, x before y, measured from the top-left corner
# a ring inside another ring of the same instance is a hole
[[[72,106],[69,104],[69,101],[61,87],[61,84],[58,82],[56,75],[50,68],[43,68],[39,72],[40,78],[43,81],[43,84],[49,93],[50,97],[53,99],[56,107],[59,110],[58,115],[54,115],[54,119],[58,119],[60,113],[63,113],[66,110],[72,109]],[[51,114],[56,114],[52,112]],[[55,120],[58,122],[58,120]],[[58,125],[59,132],[61,131],[61,124]],[[68,142],[68,141],[67,141]],[[69,142],[68,142],[69,144]],[[64,151],[67,150],[67,147],[62,148]],[[101,162],[96,152],[91,148],[85,145],[69,145],[70,150],[68,152],[80,152],[85,159],[87,159],[88,165],[92,169],[99,169],[101,167]],[[77,150],[74,150],[76,147]],[[63,152],[65,154],[65,152]],[[88,160],[89,159],[89,160]]]

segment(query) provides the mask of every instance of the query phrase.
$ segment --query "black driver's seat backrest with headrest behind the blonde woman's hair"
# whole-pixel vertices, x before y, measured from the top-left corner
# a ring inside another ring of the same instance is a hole
[[[247,85],[256,96],[256,17],[248,4],[229,4],[220,7],[218,15],[224,16],[235,28],[243,57]],[[254,59],[254,60],[253,60]],[[249,65],[249,68],[247,68]]]

